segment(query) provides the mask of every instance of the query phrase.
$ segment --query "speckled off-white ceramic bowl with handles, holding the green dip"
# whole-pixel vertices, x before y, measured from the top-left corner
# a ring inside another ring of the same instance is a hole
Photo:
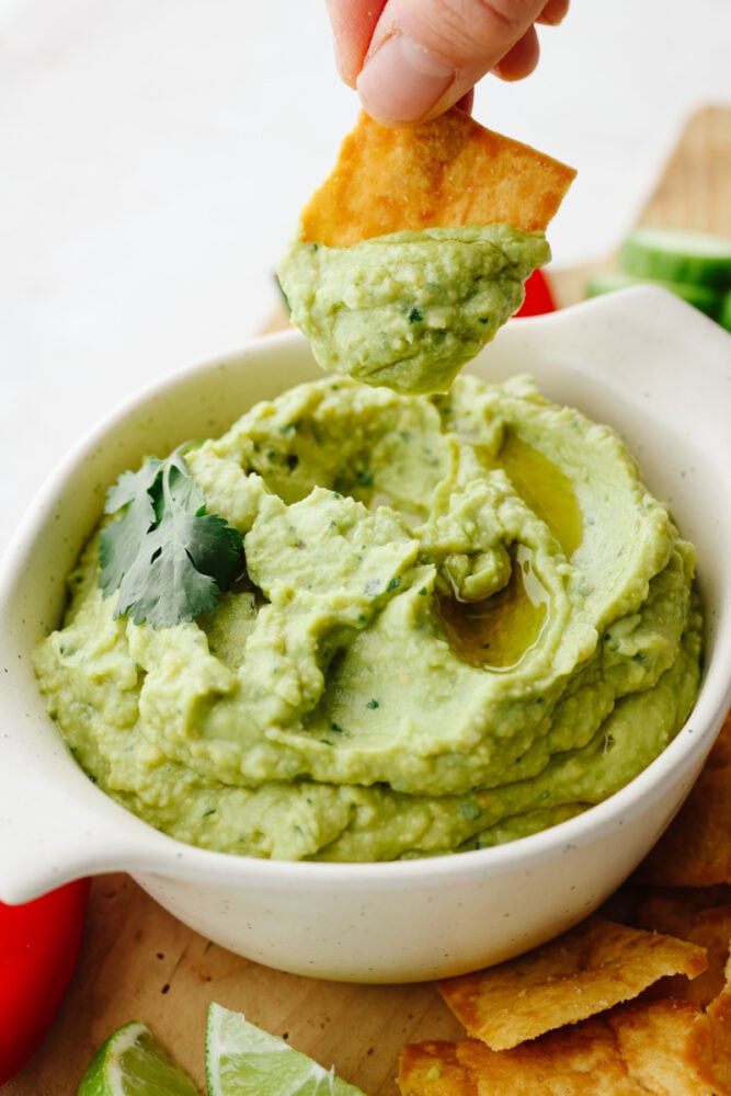
[[[254,401],[320,376],[296,333],[183,369],[85,438],[34,501],[0,574],[0,900],[129,871],[181,921],[272,967],[415,981],[525,950],[602,903],[671,820],[731,704],[731,338],[661,290],[511,321],[471,366],[529,372],[551,399],[626,436],[650,489],[698,549],[707,663],[687,726],[637,779],[513,844],[388,864],[288,864],[183,845],[77,767],[36,690],[30,652],[106,487],[149,452],[226,429]]]

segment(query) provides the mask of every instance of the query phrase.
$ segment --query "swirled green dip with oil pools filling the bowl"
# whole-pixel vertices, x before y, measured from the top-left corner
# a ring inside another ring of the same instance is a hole
[[[699,683],[694,551],[619,437],[527,377],[402,397],[327,377],[189,457],[245,574],[114,618],[98,538],[35,669],[79,764],[184,842],[283,859],[472,849],[567,819]]]

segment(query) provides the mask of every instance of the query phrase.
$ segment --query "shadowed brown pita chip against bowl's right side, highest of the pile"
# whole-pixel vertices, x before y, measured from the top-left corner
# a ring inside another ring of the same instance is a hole
[[[690,795],[636,878],[658,887],[731,883],[731,716]]]

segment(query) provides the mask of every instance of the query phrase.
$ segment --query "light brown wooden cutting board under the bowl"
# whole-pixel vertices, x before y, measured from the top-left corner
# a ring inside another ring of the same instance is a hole
[[[731,110],[688,122],[639,221],[731,237]],[[557,300],[581,299],[591,269],[556,272]],[[282,326],[282,317],[272,327]],[[92,882],[79,963],[45,1042],[3,1096],[73,1096],[99,1044],[141,1019],[204,1091],[210,1001],[243,1012],[369,1096],[396,1096],[404,1042],[462,1035],[433,985],[361,986],[273,971],[186,928],[125,875]]]

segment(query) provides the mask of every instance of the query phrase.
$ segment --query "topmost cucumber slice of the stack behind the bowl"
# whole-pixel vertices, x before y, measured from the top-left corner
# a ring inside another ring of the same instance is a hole
[[[619,252],[626,274],[731,289],[731,239],[679,228],[636,228]]]

